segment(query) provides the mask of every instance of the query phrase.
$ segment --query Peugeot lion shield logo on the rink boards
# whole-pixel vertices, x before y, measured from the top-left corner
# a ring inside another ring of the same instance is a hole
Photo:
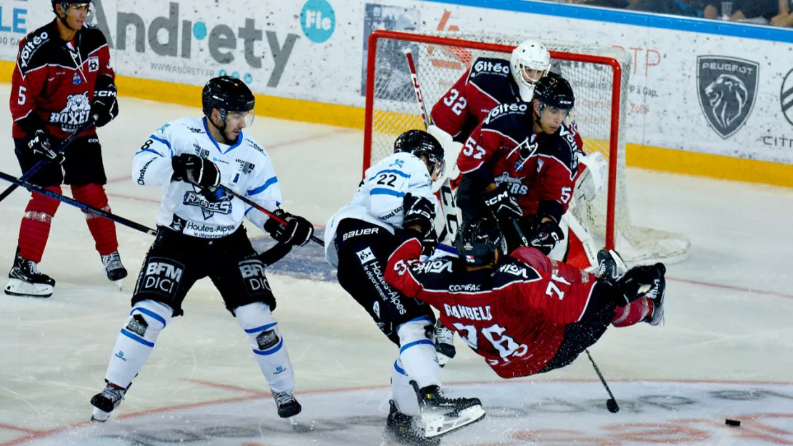
[[[727,139],[746,123],[757,97],[759,64],[728,56],[697,57],[697,93],[707,123]]]

